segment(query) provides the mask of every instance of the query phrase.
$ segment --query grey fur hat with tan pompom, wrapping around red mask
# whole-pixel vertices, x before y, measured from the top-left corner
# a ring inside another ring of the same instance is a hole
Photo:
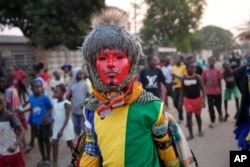
[[[93,15],[92,31],[82,46],[84,59],[89,67],[94,87],[103,92],[121,90],[134,77],[140,56],[143,55],[141,40],[129,32],[128,14],[116,7],[107,7]],[[132,61],[130,73],[119,86],[105,85],[94,66],[95,60],[104,48],[122,49]]]

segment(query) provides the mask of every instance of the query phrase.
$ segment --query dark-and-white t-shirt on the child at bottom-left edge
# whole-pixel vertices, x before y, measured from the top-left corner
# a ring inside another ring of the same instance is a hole
[[[20,151],[19,146],[14,153],[7,151],[16,142],[14,130],[20,126],[20,121],[13,113],[5,111],[0,114],[0,155],[12,155]]]

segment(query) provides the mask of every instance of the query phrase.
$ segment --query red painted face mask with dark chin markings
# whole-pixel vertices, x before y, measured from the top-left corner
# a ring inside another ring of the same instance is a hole
[[[128,75],[131,61],[121,49],[103,49],[95,61],[97,72],[107,86],[119,85]]]

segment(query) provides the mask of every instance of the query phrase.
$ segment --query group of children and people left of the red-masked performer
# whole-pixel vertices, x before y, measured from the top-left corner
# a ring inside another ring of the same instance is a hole
[[[63,76],[59,70],[51,76],[43,63],[37,63],[27,72],[8,67],[1,76],[0,166],[24,167],[25,154],[32,151],[36,139],[41,155],[37,167],[52,164],[51,148],[53,167],[58,166],[60,140],[73,150],[73,140],[84,130],[84,101],[93,88],[83,68],[65,63],[61,70]]]

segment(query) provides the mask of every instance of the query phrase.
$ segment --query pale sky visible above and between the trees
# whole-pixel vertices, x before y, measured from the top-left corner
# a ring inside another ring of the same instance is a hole
[[[106,0],[108,6],[117,6],[124,9],[130,14],[132,32],[135,31],[134,26],[134,10],[132,3],[136,2],[140,6],[137,10],[136,31],[142,26],[143,11],[145,11],[145,4],[143,0]],[[244,23],[250,20],[250,0],[206,0],[207,5],[204,14],[200,21],[200,28],[206,25],[215,25],[230,30],[234,35],[238,34],[238,28],[242,27]],[[0,35],[22,35],[18,28],[9,30],[5,28]]]

